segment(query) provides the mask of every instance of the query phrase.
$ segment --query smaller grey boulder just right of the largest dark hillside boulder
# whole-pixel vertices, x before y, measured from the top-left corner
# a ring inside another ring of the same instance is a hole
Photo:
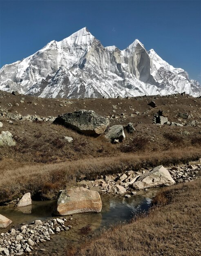
[[[123,126],[122,125],[114,125],[110,127],[106,134],[105,137],[109,139],[111,142],[114,142],[114,140],[118,141],[123,141],[125,139],[125,134],[123,131]]]

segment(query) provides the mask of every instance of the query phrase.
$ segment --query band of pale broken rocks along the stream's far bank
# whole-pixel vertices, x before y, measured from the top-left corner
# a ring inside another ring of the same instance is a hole
[[[151,171],[126,171],[117,175],[101,176],[98,180],[81,181],[78,185],[85,186],[100,193],[124,194],[133,190],[147,189],[157,186],[170,186],[175,182],[187,182],[201,176],[201,163],[181,167],[162,168],[157,166]],[[163,169],[163,170],[162,170]],[[136,194],[136,193],[135,193]]]

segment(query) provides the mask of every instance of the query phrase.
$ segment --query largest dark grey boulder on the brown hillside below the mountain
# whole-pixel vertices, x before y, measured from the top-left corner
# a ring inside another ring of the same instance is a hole
[[[54,120],[54,124],[61,124],[86,135],[100,135],[109,126],[109,120],[92,110],[78,110],[59,115]]]

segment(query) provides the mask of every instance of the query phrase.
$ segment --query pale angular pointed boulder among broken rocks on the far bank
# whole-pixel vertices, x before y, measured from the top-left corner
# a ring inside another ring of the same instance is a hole
[[[169,171],[160,165],[138,177],[136,182],[133,183],[133,188],[148,189],[157,186],[171,186],[173,184],[175,184],[175,181]]]

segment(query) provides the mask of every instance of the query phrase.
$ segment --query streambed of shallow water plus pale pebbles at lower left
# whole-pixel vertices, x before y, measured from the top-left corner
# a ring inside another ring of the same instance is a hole
[[[0,207],[0,214],[13,221],[6,229],[0,229],[0,255],[64,255],[67,243],[79,244],[102,228],[128,221],[135,214],[147,211],[155,194],[156,190],[151,189],[132,198],[102,195],[101,213],[54,218],[51,213],[55,201],[33,201],[32,206],[20,209]]]

